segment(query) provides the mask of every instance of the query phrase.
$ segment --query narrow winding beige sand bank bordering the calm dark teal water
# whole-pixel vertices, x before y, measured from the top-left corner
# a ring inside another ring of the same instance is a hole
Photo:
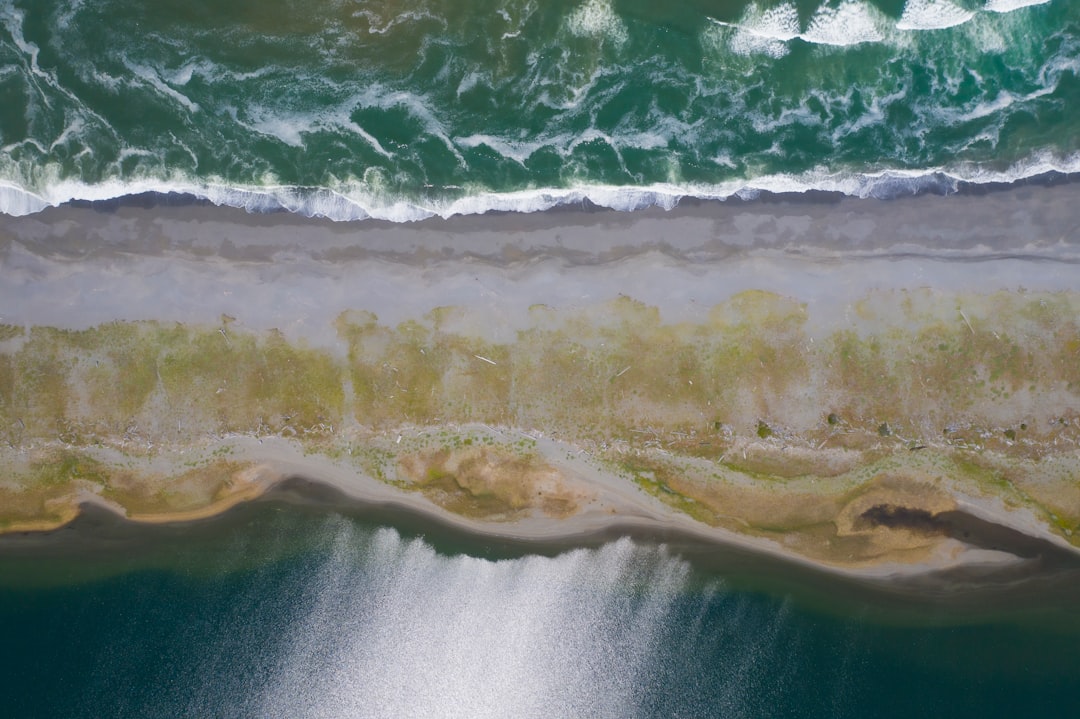
[[[110,523],[129,524],[150,531],[153,526],[173,530],[200,531],[207,521],[227,521],[228,516],[262,502],[284,502],[328,512],[362,512],[372,521],[390,526],[436,527],[451,535],[468,537],[517,551],[564,551],[595,546],[619,537],[659,541],[678,547],[684,554],[704,558],[712,553],[730,562],[742,556],[745,566],[784,567],[809,576],[832,576],[858,582],[866,587],[887,589],[895,596],[913,599],[942,597],[958,593],[958,601],[980,591],[1021,592],[1032,580],[1072,576],[1080,572],[1080,551],[1041,526],[1030,514],[1010,510],[993,498],[967,497],[959,514],[967,527],[980,524],[994,537],[949,539],[939,543],[919,561],[824,561],[783,546],[782,542],[748,537],[721,527],[707,527],[673,511],[631,483],[597,472],[588,461],[569,459],[566,447],[543,440],[544,457],[563,460],[564,477],[572,477],[573,489],[588,496],[581,511],[572,516],[552,518],[538,513],[517,519],[472,518],[448,512],[428,497],[390,487],[355,469],[325,457],[311,456],[281,438],[234,438],[231,457],[244,464],[241,481],[228,493],[206,506],[167,513],[130,513],[93,492],[80,492],[77,513],[58,525],[36,523],[10,527],[0,533],[0,553],[32,552],[49,547],[52,553],[79,553],[94,542],[94,523],[90,529],[69,532],[80,526],[87,512],[106,513]],[[100,519],[95,523],[100,523]],[[984,546],[995,542],[996,545]],[[119,545],[114,544],[113,550]],[[721,564],[723,564],[721,561]]]

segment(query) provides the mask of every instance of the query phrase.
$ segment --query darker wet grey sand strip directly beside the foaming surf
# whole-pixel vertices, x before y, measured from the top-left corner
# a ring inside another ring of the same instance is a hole
[[[564,206],[416,222],[340,222],[289,213],[249,214],[168,201],[62,205],[0,216],[3,241],[76,258],[87,254],[191,252],[231,260],[456,258],[507,264],[556,257],[568,264],[643,252],[693,261],[774,249],[813,259],[922,253],[937,258],[1038,256],[1076,259],[1078,182],[1016,185],[954,195],[864,200],[807,193],[758,200],[684,201],[671,211]],[[281,254],[280,257],[275,255]]]

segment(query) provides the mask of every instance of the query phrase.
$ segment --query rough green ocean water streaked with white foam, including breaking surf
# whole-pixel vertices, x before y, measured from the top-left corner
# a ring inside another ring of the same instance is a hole
[[[1080,169],[1071,0],[0,0],[0,212],[411,220]]]

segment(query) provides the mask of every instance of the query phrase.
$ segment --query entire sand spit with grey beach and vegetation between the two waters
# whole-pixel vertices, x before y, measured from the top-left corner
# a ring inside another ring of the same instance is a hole
[[[4,218],[0,531],[306,477],[527,541],[637,526],[868,578],[1070,561],[1072,189]]]

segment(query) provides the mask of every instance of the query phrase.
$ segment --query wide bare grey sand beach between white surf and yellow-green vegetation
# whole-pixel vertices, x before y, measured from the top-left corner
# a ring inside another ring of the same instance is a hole
[[[881,288],[1069,290],[1076,187],[409,225],[205,205],[57,207],[0,217],[0,322],[82,329],[227,314],[325,345],[333,320],[355,308],[394,325],[469,307],[516,331],[537,303],[624,294],[677,321],[748,289],[808,300],[821,315]]]

